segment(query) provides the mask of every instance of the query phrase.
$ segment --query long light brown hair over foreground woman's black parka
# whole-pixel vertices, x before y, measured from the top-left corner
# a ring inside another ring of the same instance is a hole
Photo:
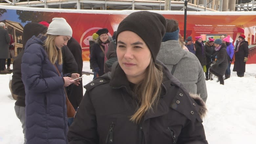
[[[145,78],[135,86],[134,93],[140,102],[139,109],[131,116],[130,120],[139,123],[146,112],[152,110],[153,105],[157,105],[161,92],[163,79],[162,67],[151,59],[146,68]]]

